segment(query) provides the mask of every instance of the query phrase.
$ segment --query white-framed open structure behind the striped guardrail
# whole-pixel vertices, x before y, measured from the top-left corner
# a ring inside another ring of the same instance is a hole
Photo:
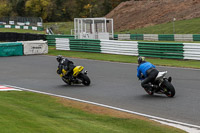
[[[74,35],[76,39],[113,39],[113,19],[74,18]]]

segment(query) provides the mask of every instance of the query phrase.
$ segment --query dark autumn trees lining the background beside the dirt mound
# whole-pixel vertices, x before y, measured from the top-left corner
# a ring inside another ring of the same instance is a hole
[[[42,17],[44,22],[103,17],[128,0],[0,0],[0,17]]]

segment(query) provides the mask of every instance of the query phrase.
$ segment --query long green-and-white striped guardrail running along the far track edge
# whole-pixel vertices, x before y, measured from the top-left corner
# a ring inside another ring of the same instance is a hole
[[[200,60],[200,43],[163,43],[60,38],[56,39],[56,49],[168,59]]]

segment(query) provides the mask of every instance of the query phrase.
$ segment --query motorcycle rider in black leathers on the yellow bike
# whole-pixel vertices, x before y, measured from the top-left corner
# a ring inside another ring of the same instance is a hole
[[[69,78],[69,80],[70,80],[71,76],[73,74],[73,69],[76,67],[74,65],[74,63],[72,61],[68,60],[67,58],[64,58],[62,55],[58,55],[56,57],[56,60],[59,63],[57,73],[61,74],[62,69],[64,68],[67,71],[67,74],[65,75],[65,77]]]

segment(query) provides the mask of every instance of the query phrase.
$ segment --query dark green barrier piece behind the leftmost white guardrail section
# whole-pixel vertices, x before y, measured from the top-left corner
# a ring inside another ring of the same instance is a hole
[[[56,38],[74,39],[73,35],[46,35],[46,40],[49,46],[56,45]]]

